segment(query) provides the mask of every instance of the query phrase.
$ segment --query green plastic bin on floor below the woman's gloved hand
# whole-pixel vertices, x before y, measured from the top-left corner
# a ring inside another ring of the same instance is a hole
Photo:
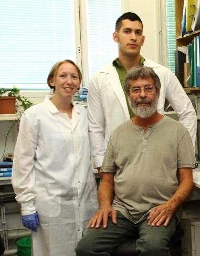
[[[31,237],[17,240],[17,256],[31,256]]]

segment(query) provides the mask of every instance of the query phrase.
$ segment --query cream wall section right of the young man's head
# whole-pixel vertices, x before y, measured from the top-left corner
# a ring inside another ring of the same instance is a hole
[[[143,22],[141,54],[166,65],[166,17],[163,0],[122,0],[122,13],[134,12]]]

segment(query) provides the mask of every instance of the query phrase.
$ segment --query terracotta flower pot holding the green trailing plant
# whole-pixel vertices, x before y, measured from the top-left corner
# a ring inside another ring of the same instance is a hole
[[[14,96],[0,97],[0,114],[15,114],[15,101]]]

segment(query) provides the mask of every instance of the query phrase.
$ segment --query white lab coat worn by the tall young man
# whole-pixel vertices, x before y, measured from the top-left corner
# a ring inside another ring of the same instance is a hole
[[[165,97],[176,111],[179,121],[189,131],[193,145],[196,139],[197,117],[194,107],[176,76],[160,64],[145,58],[159,76],[161,90],[157,110],[164,114]],[[90,146],[94,167],[102,165],[110,133],[130,119],[127,102],[116,68],[110,63],[91,78],[88,89],[88,117]]]

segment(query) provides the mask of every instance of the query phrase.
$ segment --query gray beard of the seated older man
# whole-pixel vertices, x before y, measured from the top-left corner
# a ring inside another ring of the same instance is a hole
[[[147,105],[147,106],[138,106],[136,102],[132,103],[130,98],[128,99],[128,101],[133,113],[136,116],[140,116],[141,118],[147,118],[152,116],[157,110],[157,103],[159,101],[159,97],[156,96],[155,100],[151,102],[151,105]]]

